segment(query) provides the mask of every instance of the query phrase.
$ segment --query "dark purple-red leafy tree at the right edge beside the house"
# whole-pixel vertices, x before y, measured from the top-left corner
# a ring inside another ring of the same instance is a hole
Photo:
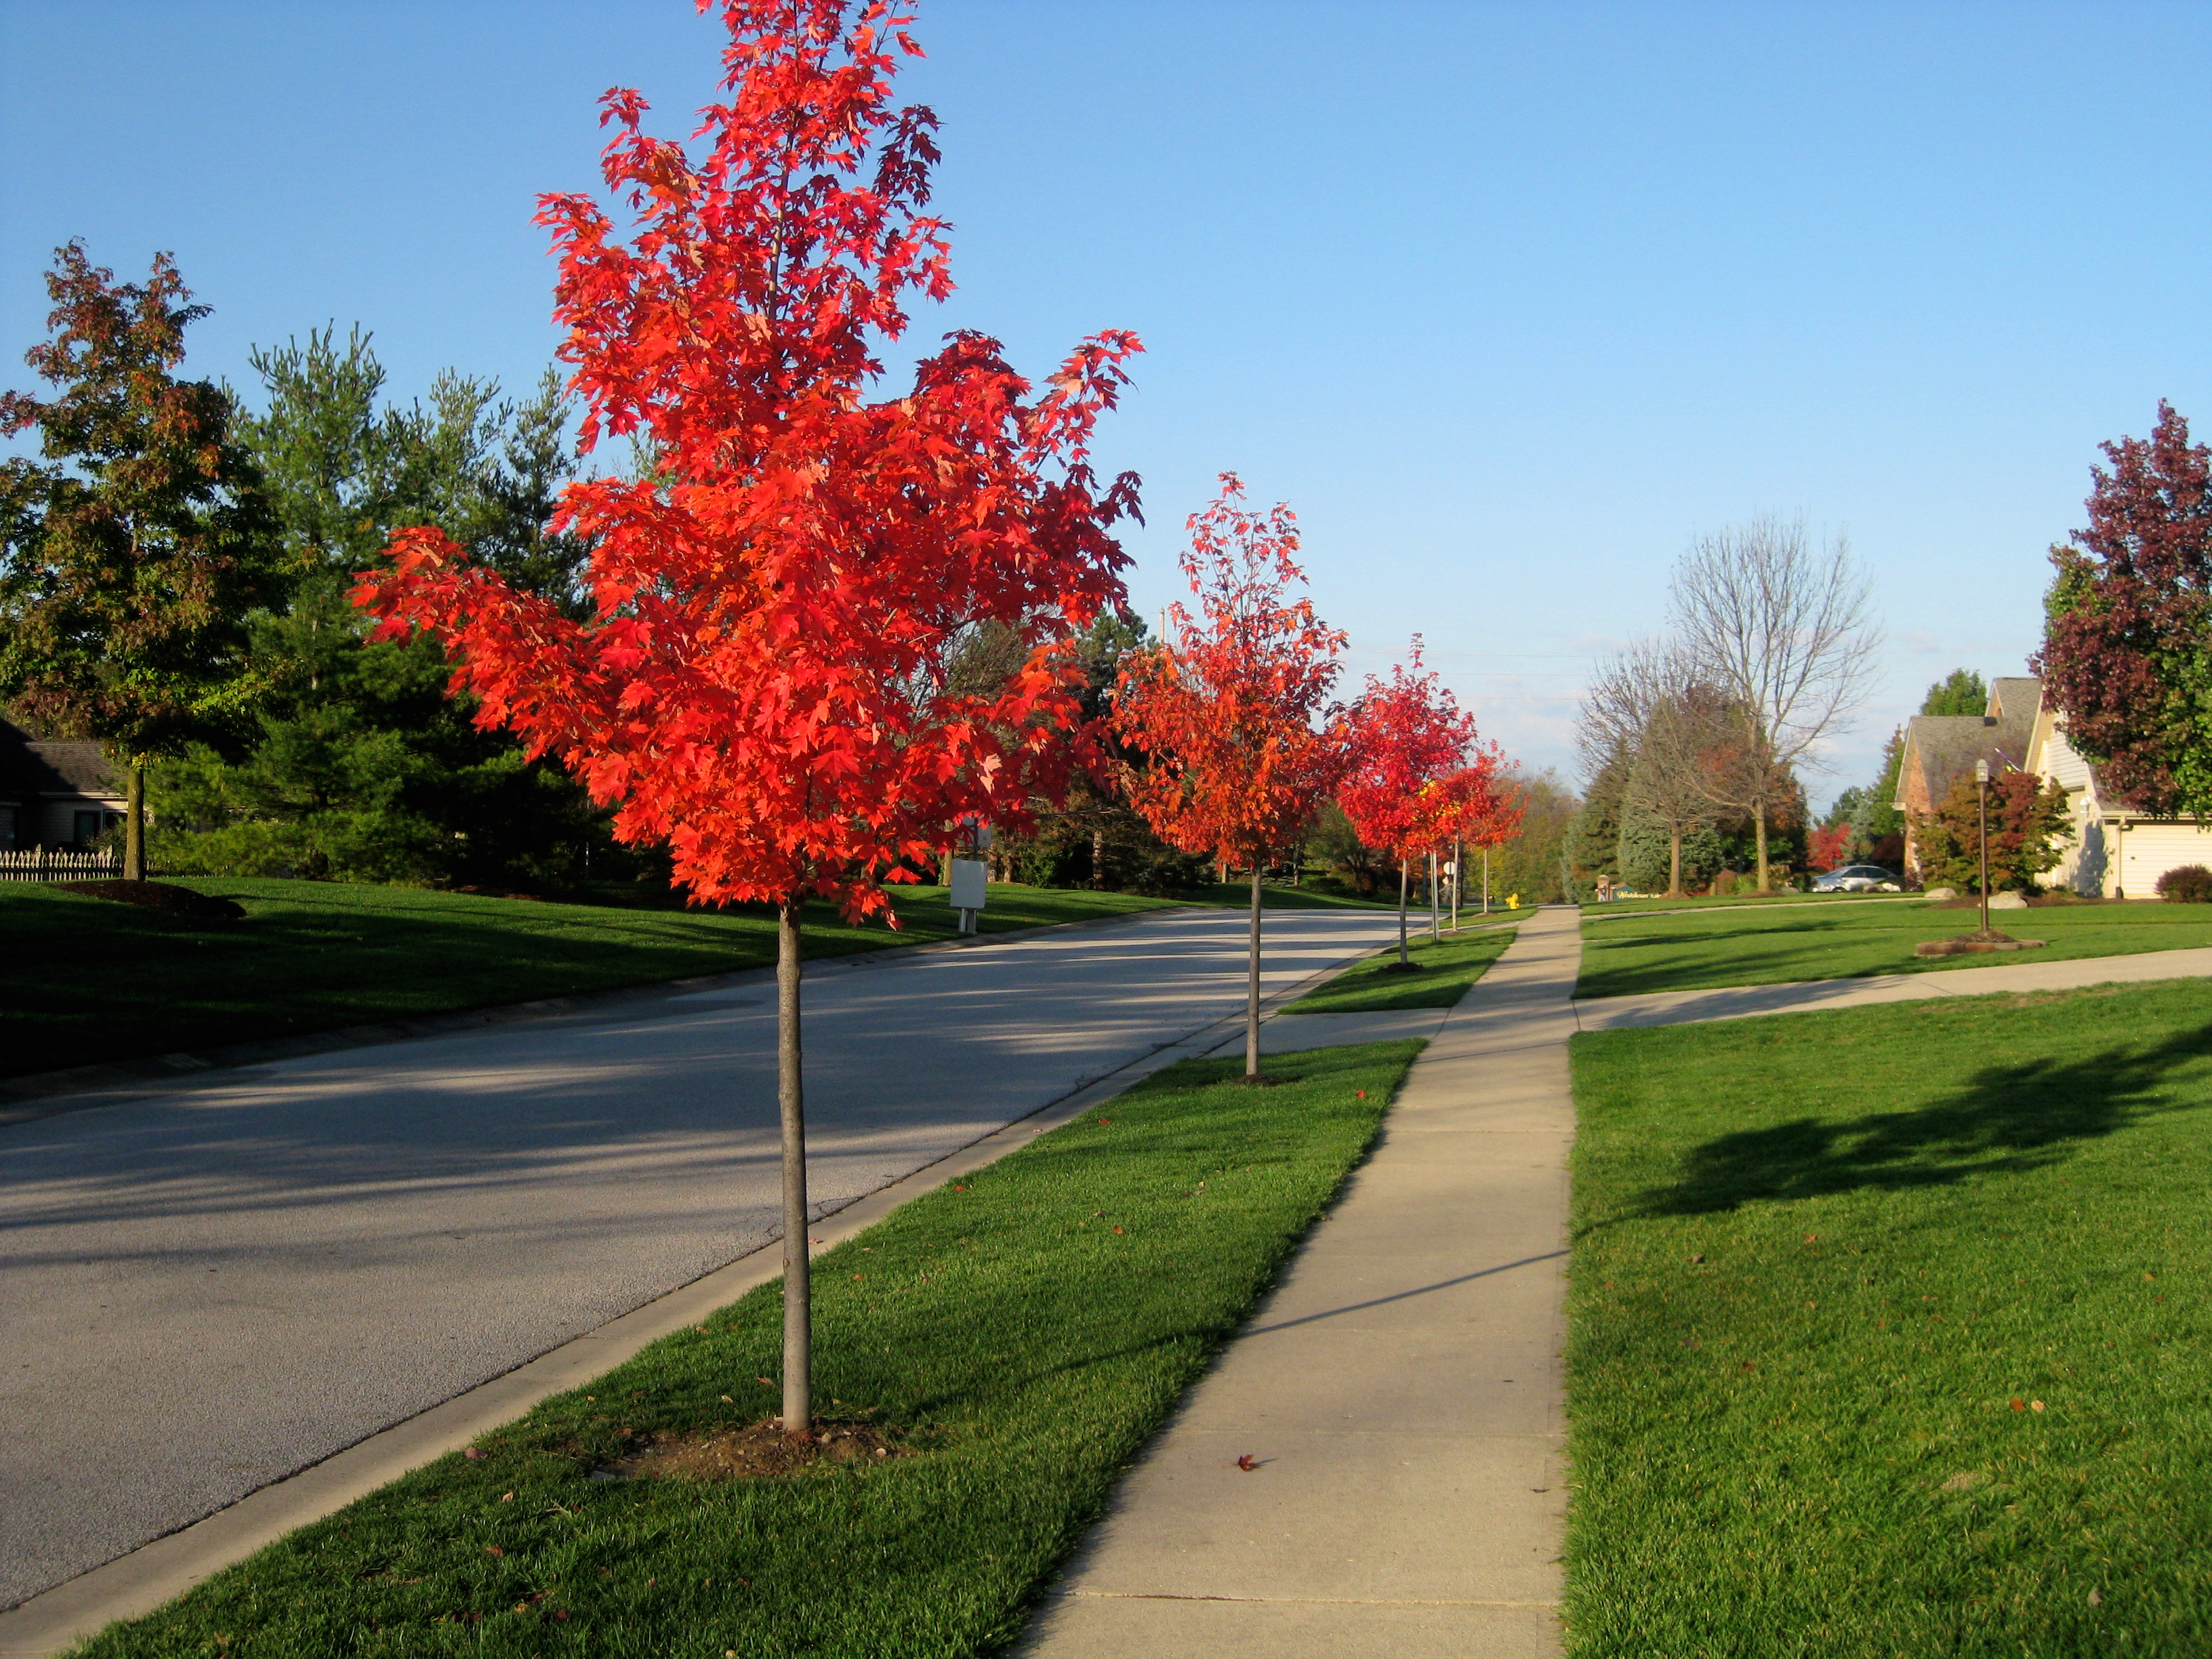
[[[2088,529],[2051,549],[2033,668],[2119,801],[2212,812],[2212,449],[2161,400],[2148,440],[2104,456]]]

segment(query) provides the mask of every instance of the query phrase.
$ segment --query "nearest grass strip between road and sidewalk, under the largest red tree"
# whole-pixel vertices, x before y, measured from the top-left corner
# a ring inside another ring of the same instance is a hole
[[[1181,1062],[816,1259],[825,1416],[909,1449],[593,1480],[776,1409],[781,1290],[215,1575],[80,1659],[998,1652],[1336,1192],[1420,1044]],[[1367,1099],[1358,1097],[1367,1091]]]

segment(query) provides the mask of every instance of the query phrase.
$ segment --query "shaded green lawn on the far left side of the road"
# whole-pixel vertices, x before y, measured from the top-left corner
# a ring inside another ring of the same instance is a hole
[[[776,960],[763,909],[557,905],[418,887],[195,876],[243,922],[175,916],[0,883],[0,1077],[95,1060],[330,1031],[571,991],[723,973]],[[982,927],[1157,909],[1168,900],[991,887]],[[942,887],[898,896],[902,929],[807,916],[807,953],[951,938]]]

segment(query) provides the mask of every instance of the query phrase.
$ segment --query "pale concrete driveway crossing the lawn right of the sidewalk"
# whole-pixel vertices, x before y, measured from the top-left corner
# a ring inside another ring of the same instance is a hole
[[[1986,969],[1933,973],[1878,973],[1865,980],[1798,980],[1792,984],[1734,984],[1717,991],[1650,991],[1632,998],[1575,1002],[1582,1031],[1674,1026],[1697,1020],[1743,1020],[1759,1013],[1865,1009],[1876,1002],[1975,998],[1993,991],[2075,991],[2084,984],[2141,984],[2212,975],[2212,951],[2143,951],[2141,956],[2084,956],[2068,962],[2006,962]]]

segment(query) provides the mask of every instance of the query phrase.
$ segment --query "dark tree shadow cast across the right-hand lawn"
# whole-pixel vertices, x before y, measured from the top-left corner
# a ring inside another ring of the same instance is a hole
[[[2081,1060],[1984,1066],[1964,1086],[1911,1110],[1843,1121],[1796,1117],[1692,1148],[1677,1181],[1648,1188],[1637,1217],[1714,1214],[1767,1199],[1953,1186],[1975,1175],[2035,1170],[2081,1141],[2146,1117],[2190,1110],[2174,1073],[2212,1057],[2212,1024]]]

